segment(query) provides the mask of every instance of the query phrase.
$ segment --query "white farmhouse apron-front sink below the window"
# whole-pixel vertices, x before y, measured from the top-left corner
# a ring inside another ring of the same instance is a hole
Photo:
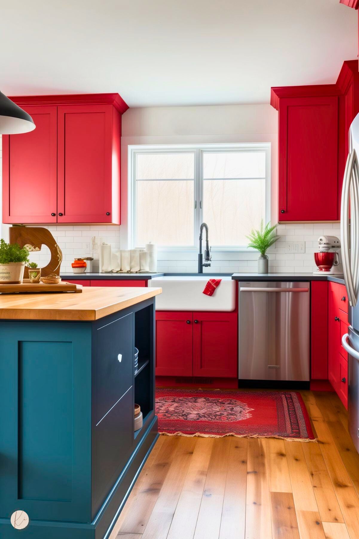
[[[202,293],[208,279],[222,279],[212,296]],[[148,286],[162,288],[162,294],[156,296],[156,310],[231,311],[236,307],[236,281],[230,277],[154,277]]]

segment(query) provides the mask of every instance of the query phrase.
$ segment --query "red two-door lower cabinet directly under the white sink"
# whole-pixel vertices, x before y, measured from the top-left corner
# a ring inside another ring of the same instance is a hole
[[[237,378],[237,313],[156,312],[156,376]]]

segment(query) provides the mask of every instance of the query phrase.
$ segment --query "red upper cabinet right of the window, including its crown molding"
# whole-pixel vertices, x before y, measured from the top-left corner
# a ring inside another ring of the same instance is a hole
[[[358,61],[335,84],[271,88],[278,110],[278,220],[340,220],[348,129],[359,112]]]

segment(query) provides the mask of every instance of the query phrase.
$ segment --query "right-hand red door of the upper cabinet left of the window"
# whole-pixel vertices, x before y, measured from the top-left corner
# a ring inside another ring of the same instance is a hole
[[[113,108],[58,107],[58,223],[113,222]]]

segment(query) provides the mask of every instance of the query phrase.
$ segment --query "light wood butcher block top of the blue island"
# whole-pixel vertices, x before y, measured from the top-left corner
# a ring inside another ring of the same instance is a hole
[[[0,294],[0,320],[94,321],[161,292],[161,288],[83,287],[81,294]]]

